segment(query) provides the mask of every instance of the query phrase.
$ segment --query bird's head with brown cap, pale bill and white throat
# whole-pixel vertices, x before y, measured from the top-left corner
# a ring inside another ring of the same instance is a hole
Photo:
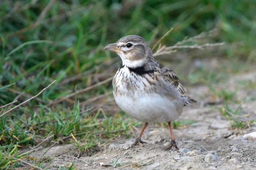
[[[118,54],[123,65],[129,68],[142,67],[147,59],[152,57],[152,51],[146,40],[137,35],[122,37],[116,43],[107,45],[104,49]]]

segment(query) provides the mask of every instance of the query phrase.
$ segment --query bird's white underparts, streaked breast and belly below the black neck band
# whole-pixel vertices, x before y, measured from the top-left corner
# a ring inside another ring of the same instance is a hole
[[[117,105],[142,122],[169,122],[177,119],[182,113],[182,110],[177,110],[179,100],[170,100],[148,90],[154,85],[146,78],[150,79],[148,75],[143,77],[131,74],[127,67],[119,69],[114,77],[116,84],[113,85],[119,91],[114,93]]]

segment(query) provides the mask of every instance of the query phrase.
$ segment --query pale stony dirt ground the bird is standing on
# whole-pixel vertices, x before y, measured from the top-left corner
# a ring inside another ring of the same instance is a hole
[[[256,72],[230,77],[225,85],[229,90],[237,89],[237,80],[256,79]],[[205,85],[196,85],[186,88],[187,94],[196,99],[209,94]],[[209,100],[212,100],[209,95]],[[253,89],[239,88],[236,97],[255,97]],[[218,100],[217,100],[218,101]],[[217,105],[215,106],[221,106]],[[237,108],[238,104],[230,104]],[[256,101],[241,104],[240,116],[250,119],[256,118]],[[204,103],[184,108],[180,117],[182,120],[193,120],[190,125],[183,125],[173,130],[177,146],[180,150],[166,150],[170,144],[171,136],[168,127],[149,124],[143,133],[142,140],[146,144],[131,147],[134,136],[129,139],[116,139],[102,146],[101,149],[92,150],[94,153],[87,156],[82,153],[78,159],[78,150],[72,144],[54,146],[46,155],[53,156],[50,169],[58,169],[74,162],[74,167],[81,170],[91,169],[142,169],[142,170],[252,170],[256,169],[256,139],[247,139],[243,135],[256,131],[256,123],[244,129],[233,129],[228,119],[219,111]],[[143,124],[141,125],[143,126]],[[139,133],[141,127],[137,127]],[[38,156],[47,148],[37,152]],[[101,150],[101,151],[99,151]],[[113,162],[111,164],[111,162]]]

